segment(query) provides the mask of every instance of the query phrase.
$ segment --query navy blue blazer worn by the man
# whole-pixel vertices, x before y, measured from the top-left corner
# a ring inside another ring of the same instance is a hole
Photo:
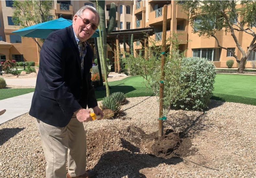
[[[39,72],[29,115],[65,127],[79,108],[97,106],[91,82],[93,50],[87,45],[84,74],[72,25],[52,32],[40,52]]]

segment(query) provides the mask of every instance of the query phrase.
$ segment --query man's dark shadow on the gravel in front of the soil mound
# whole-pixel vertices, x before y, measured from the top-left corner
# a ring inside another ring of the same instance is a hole
[[[122,147],[128,149],[120,151],[110,151],[103,154],[94,171],[97,172],[98,178],[121,178],[128,175],[129,178],[146,178],[139,171],[144,168],[156,167],[159,164],[177,164],[183,160],[178,157],[164,159],[152,154],[140,153],[140,149],[130,142],[121,139]]]

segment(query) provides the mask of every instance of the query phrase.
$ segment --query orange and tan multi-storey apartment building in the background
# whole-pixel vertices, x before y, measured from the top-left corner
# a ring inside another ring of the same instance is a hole
[[[226,61],[234,57],[230,57],[230,53],[226,50],[221,50],[217,47],[214,38],[199,37],[194,34],[187,14],[182,10],[181,4],[184,1],[159,1],[159,0],[124,0],[124,1],[110,1],[106,0],[105,15],[106,26],[109,24],[109,10],[111,2],[116,4],[116,26],[114,30],[135,29],[154,27],[155,34],[150,36],[157,45],[162,45],[162,26],[163,26],[163,6],[167,5],[167,37],[172,36],[173,33],[178,35],[180,42],[179,50],[185,51],[187,57],[205,57],[213,61],[216,67],[227,67]],[[66,19],[72,19],[75,12],[84,5],[96,7],[96,3],[90,1],[66,1],[54,0],[52,1],[52,18],[59,18],[61,15]],[[0,59],[2,61],[8,59],[15,59],[16,61],[35,61],[39,62],[40,49],[32,38],[23,38],[12,34],[13,31],[19,29],[12,22],[12,15],[15,8],[12,7],[12,1],[1,1],[0,3]],[[244,32],[236,32],[239,37],[239,42],[243,49],[249,46],[251,37]],[[234,40],[229,33],[225,34],[221,30],[217,34],[220,43],[223,47],[234,50],[238,57],[241,53]],[[40,39],[37,39],[40,42]],[[141,40],[143,41],[143,39]],[[126,45],[127,50],[129,49]],[[150,42],[149,42],[150,47]],[[167,43],[167,47],[169,44]],[[121,55],[123,44],[120,44]],[[142,49],[140,41],[134,42],[134,53],[139,54]],[[107,57],[111,59],[113,53],[108,47]],[[256,55],[253,51],[248,59],[246,67],[250,68],[250,61],[255,61]],[[235,61],[233,67],[237,67]]]

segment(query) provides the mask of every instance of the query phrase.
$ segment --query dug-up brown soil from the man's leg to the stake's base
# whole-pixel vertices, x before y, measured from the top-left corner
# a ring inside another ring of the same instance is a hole
[[[120,167],[127,163],[127,160],[122,161],[125,154],[130,154],[131,158],[140,155],[137,161],[131,161],[133,166],[138,166],[137,163],[139,163],[139,167],[142,168],[149,166],[148,162],[152,161],[152,157],[158,158],[154,161],[161,162],[161,160],[173,161],[179,156],[192,155],[195,151],[190,150],[192,146],[190,139],[181,139],[180,135],[182,134],[168,129],[164,130],[162,139],[158,140],[158,131],[146,134],[141,128],[135,126],[128,126],[122,130],[116,127],[88,130],[87,160],[88,162],[99,160],[96,167],[100,166],[101,163],[103,166],[103,162],[115,164],[119,162],[118,166]],[[151,164],[155,165],[152,162]],[[88,168],[92,169],[93,166],[88,165]]]

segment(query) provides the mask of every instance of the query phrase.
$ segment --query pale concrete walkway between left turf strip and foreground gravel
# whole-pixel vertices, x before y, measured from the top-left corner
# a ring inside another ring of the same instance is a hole
[[[0,124],[29,112],[33,94],[34,92],[0,100],[1,109],[6,109],[0,116]]]

